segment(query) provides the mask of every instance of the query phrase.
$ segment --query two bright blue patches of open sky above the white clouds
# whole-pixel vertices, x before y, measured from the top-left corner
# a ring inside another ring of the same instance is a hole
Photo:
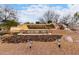
[[[8,6],[10,8],[13,8],[13,9],[16,9],[16,10],[24,10],[26,8],[23,8],[23,7],[29,7],[30,5],[38,5],[38,4],[8,4]],[[48,5],[49,7],[52,7],[52,6],[61,6],[63,8],[68,8],[68,5],[67,4],[43,4],[43,5]]]

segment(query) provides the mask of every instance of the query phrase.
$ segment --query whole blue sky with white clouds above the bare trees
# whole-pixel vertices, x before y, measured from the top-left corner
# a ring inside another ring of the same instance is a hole
[[[22,23],[38,21],[38,18],[48,10],[60,15],[73,15],[79,11],[79,5],[73,4],[4,4],[4,6],[17,10],[19,22]]]

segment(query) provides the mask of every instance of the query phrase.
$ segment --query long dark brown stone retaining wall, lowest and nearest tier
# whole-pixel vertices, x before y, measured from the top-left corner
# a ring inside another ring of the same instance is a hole
[[[32,41],[54,41],[56,39],[60,39],[62,35],[14,35],[11,37],[6,37],[2,39],[2,42],[5,43],[24,43],[27,40],[31,39]]]

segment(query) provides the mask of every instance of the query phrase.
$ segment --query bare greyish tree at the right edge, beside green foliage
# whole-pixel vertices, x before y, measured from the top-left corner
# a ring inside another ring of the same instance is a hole
[[[60,20],[60,23],[66,25],[69,28],[74,28],[75,26],[79,26],[79,14],[76,12],[73,16],[66,15],[63,16]]]

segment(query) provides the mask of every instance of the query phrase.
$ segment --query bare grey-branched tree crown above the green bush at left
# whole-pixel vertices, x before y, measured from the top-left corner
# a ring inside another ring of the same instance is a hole
[[[0,21],[4,22],[6,20],[17,19],[17,12],[8,6],[1,8],[0,10]]]

